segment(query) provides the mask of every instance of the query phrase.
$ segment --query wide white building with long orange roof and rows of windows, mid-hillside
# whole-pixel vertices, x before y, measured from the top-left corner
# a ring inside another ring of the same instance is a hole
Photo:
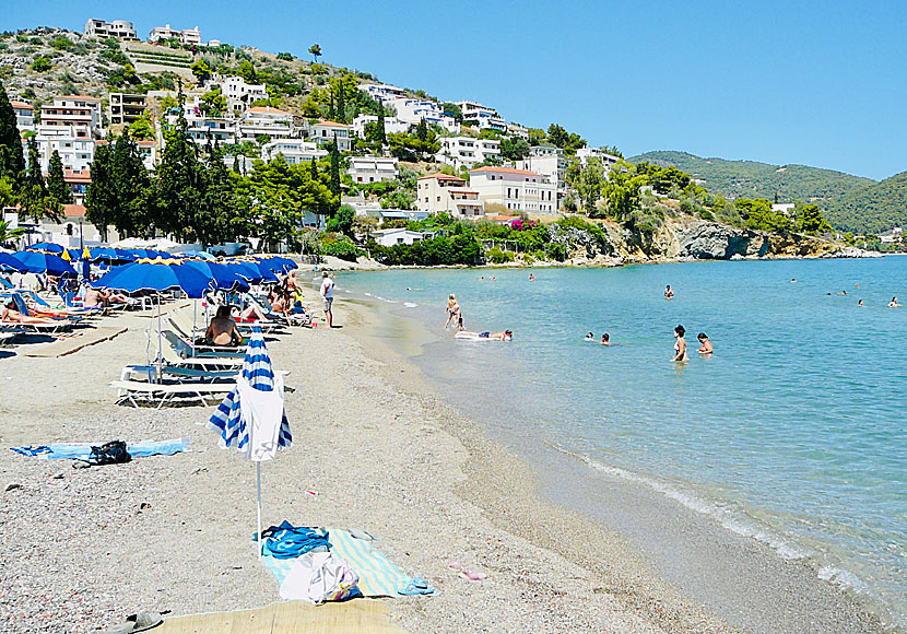
[[[469,173],[470,188],[485,203],[518,213],[554,213],[557,188],[541,174],[511,167],[480,167]]]

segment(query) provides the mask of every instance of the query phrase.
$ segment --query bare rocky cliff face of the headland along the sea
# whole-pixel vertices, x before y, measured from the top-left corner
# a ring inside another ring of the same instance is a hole
[[[652,233],[616,222],[600,225],[605,244],[586,240],[573,253],[575,263],[624,265],[670,260],[865,257],[870,254],[812,236],[778,235],[692,216],[668,218]]]

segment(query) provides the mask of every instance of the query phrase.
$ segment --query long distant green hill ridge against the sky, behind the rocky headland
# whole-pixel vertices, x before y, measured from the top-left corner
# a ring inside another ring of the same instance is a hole
[[[806,165],[770,165],[756,161],[702,158],[686,152],[646,152],[629,160],[672,165],[704,181],[706,188],[727,198],[767,198],[789,202],[837,200],[857,189],[873,185],[869,178]]]

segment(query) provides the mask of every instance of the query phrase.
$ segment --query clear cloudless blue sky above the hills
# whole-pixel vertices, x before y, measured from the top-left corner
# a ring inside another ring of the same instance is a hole
[[[625,156],[907,171],[907,2],[717,0],[376,2],[2,0],[0,30],[89,17],[199,26],[372,72],[508,121],[558,122]]]

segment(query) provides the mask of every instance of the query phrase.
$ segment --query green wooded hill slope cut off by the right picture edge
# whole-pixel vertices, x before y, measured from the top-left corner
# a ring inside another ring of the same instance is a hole
[[[834,226],[855,233],[907,226],[907,172],[828,201],[825,218]]]

